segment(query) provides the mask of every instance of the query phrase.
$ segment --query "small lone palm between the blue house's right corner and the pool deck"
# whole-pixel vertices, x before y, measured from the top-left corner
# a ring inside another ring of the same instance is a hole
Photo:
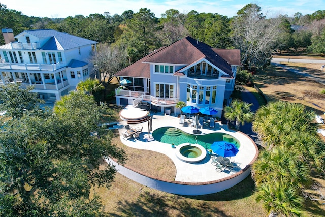
[[[239,130],[240,124],[253,120],[254,113],[250,110],[252,103],[246,103],[235,99],[230,103],[230,106],[224,107],[224,117],[227,120],[236,120],[236,129]]]

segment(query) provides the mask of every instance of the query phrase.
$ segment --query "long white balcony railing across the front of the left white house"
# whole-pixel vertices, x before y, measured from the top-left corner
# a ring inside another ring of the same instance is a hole
[[[10,70],[38,70],[38,71],[55,71],[66,67],[66,62],[59,62],[56,64],[19,64],[19,63],[0,63],[0,69]]]

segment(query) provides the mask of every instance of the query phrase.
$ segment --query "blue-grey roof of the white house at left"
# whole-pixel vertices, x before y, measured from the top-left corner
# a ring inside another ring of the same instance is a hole
[[[98,43],[78,36],[73,36],[68,33],[58,32],[53,29],[25,30],[24,32],[18,34],[15,38],[26,33],[37,38],[49,38],[45,45],[41,47],[43,50],[69,50],[84,45]]]

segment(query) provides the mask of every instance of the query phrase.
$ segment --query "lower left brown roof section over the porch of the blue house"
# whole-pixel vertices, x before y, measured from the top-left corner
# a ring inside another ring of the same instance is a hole
[[[158,50],[153,51],[149,55],[147,55],[147,56],[143,57],[142,59],[139,59],[135,63],[125,67],[124,69],[122,69],[121,71],[116,73],[114,76],[150,78],[150,64],[143,63],[143,60],[164,48],[165,47],[162,47]]]

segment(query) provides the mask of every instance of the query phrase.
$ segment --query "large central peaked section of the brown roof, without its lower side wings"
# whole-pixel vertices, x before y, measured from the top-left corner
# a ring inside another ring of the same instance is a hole
[[[203,58],[233,77],[230,63],[213,51],[211,46],[199,42],[189,36],[174,42],[159,52],[156,52],[154,55],[146,58],[144,62],[191,65]]]

